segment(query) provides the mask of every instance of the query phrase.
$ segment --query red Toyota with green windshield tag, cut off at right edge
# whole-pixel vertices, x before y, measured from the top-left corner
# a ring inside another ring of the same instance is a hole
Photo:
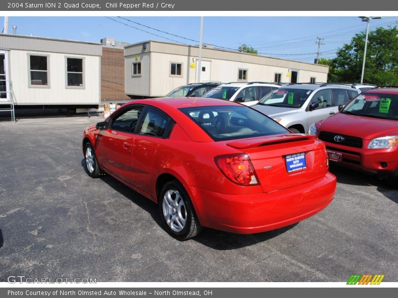
[[[361,93],[339,113],[313,124],[309,133],[326,143],[333,163],[377,174],[397,186],[397,87]]]

